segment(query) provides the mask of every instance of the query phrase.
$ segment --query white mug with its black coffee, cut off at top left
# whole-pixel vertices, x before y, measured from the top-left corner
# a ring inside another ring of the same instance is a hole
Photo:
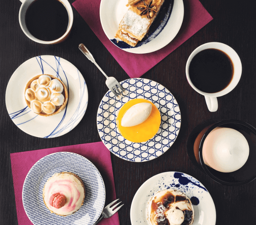
[[[20,0],[19,22],[31,40],[41,44],[64,41],[73,24],[73,11],[68,0]]]

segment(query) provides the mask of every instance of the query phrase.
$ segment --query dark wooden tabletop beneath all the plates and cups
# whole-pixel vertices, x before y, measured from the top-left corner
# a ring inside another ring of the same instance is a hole
[[[70,3],[74,0],[69,0]],[[211,194],[217,225],[256,224],[256,180],[242,186],[225,186],[196,168],[186,153],[186,140],[192,129],[209,119],[239,119],[256,127],[256,22],[254,0],[200,0],[214,18],[209,24],[174,50],[142,77],[164,85],[177,99],[182,114],[178,138],[172,147],[155,160],[133,163],[111,153],[116,195],[125,203],[119,211],[120,225],[129,225],[133,196],[148,178],[165,171],[180,171],[194,176]],[[184,0],[185,7],[188,4]],[[19,0],[0,0],[0,224],[15,225],[17,212],[13,190],[10,153],[101,141],[96,112],[108,88],[101,72],[79,51],[87,45],[99,66],[118,81],[128,75],[116,62],[83,18],[73,8],[74,23],[69,38],[61,44],[42,45],[22,32],[18,15]],[[243,73],[239,84],[218,98],[219,109],[209,112],[204,97],[187,83],[185,65],[191,52],[206,42],[222,42],[236,50]],[[56,55],[74,64],[83,74],[89,103],[81,122],[57,138],[36,138],[21,131],[10,119],[5,106],[5,91],[20,64],[37,55]]]

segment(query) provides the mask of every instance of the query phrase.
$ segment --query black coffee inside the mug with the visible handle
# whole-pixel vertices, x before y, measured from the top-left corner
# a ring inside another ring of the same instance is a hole
[[[200,91],[216,93],[225,89],[234,75],[229,56],[218,49],[205,49],[197,53],[189,65],[191,82]]]

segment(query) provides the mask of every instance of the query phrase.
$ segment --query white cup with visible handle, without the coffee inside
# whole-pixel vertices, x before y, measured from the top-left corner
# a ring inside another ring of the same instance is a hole
[[[230,57],[233,65],[234,65],[234,75],[233,75],[231,82],[225,89],[223,89],[222,91],[216,92],[216,93],[206,93],[206,92],[200,91],[198,88],[196,88],[194,86],[194,84],[191,82],[190,77],[189,77],[189,65],[190,65],[191,60],[197,53],[199,53],[200,51],[205,50],[205,49],[219,49],[222,52],[225,52]],[[210,112],[217,111],[217,109],[218,109],[217,97],[223,96],[223,95],[231,92],[238,84],[238,82],[241,78],[241,74],[242,74],[242,64],[241,64],[241,60],[240,60],[239,56],[237,55],[237,53],[235,52],[234,49],[232,49],[228,45],[220,43],[220,42],[209,42],[209,43],[200,45],[191,53],[191,55],[189,56],[189,59],[187,60],[187,64],[186,64],[187,81],[189,82],[190,86],[195,91],[197,91],[199,94],[202,94],[205,97],[205,101],[206,101],[207,107]]]

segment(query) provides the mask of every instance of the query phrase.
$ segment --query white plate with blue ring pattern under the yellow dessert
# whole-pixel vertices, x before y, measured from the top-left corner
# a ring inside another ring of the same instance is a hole
[[[99,136],[105,146],[116,156],[134,162],[157,158],[174,143],[180,131],[180,108],[172,93],[155,81],[142,78],[120,82],[126,96],[118,99],[108,91],[97,113]],[[146,142],[133,143],[121,136],[116,126],[119,109],[131,99],[147,99],[157,106],[161,114],[161,124],[157,134]]]

